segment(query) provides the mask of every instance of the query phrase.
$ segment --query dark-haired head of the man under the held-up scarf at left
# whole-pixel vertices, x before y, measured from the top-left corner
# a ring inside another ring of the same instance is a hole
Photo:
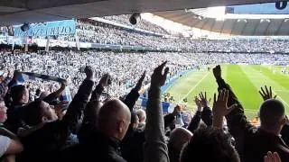
[[[24,85],[14,85],[11,88],[10,94],[13,103],[28,103],[29,92]]]

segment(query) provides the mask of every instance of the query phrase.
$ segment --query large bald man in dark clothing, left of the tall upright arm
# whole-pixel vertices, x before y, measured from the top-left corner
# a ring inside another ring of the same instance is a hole
[[[98,112],[96,129],[85,142],[62,152],[59,161],[126,162],[118,154],[119,144],[126,135],[131,113],[125,103],[110,99]]]

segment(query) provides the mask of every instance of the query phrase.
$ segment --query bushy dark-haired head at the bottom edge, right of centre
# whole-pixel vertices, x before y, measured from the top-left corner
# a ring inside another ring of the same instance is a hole
[[[182,148],[180,161],[239,162],[240,160],[238,152],[232,147],[223,130],[206,128],[195,131],[189,142]]]

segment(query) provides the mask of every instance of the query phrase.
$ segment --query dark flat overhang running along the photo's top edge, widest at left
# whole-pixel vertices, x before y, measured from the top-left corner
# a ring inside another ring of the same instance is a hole
[[[133,12],[153,13],[184,8],[266,2],[275,2],[275,0],[1,0],[0,25],[39,23],[113,14],[132,14]],[[168,17],[182,21],[182,19],[177,18],[179,14],[182,14],[184,17],[188,16],[182,13],[182,11],[163,14],[163,16],[171,15]],[[189,20],[190,16],[187,19]],[[207,27],[208,21],[205,22],[204,27]],[[184,23],[188,22],[184,21]],[[200,22],[197,23],[201,24]],[[213,23],[213,21],[210,23]]]

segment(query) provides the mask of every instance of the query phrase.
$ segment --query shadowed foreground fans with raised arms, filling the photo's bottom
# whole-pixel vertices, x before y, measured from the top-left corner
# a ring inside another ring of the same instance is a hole
[[[180,125],[180,106],[166,115],[161,107],[161,86],[171,67],[167,64],[154,65],[145,110],[135,109],[138,92],[148,76],[145,71],[135,76],[135,85],[126,96],[101,101],[105,87],[111,84],[110,76],[104,74],[96,82],[96,71],[85,67],[70,103],[60,98],[66,81],[51,94],[30,101],[27,86],[17,85],[22,73],[14,71],[0,102],[4,123],[0,156],[6,161],[60,162],[289,160],[289,122],[272,87],[259,91],[264,102],[259,109],[260,127],[256,128],[247,121],[244,107],[217,66],[213,75],[219,92],[213,96],[212,107],[210,96],[200,93],[195,97],[196,112],[189,123]]]

